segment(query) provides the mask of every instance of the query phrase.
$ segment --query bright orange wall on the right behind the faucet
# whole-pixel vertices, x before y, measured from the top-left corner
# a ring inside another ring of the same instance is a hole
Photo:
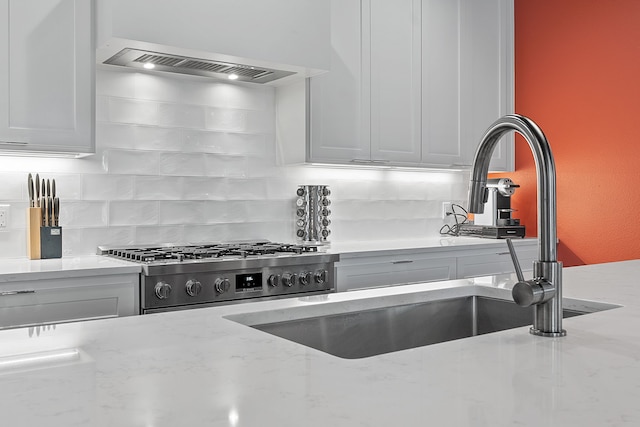
[[[640,1],[515,0],[516,112],[549,140],[565,265],[640,258]],[[516,217],[536,235],[535,165],[516,143]]]

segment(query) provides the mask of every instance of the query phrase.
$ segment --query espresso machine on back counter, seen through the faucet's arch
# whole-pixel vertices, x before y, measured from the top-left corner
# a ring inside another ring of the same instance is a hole
[[[519,187],[510,178],[488,179],[484,213],[474,214],[473,224],[461,225],[460,235],[492,239],[524,237],[525,227],[512,217],[511,209],[511,196]]]

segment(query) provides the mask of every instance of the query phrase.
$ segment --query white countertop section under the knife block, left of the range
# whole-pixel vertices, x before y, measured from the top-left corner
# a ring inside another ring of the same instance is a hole
[[[0,283],[109,274],[135,274],[140,271],[140,266],[134,263],[98,255],[39,260],[8,258],[0,260]]]

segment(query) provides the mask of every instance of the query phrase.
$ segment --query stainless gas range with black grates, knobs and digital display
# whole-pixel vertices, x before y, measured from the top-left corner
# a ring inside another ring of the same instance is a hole
[[[335,292],[338,254],[318,246],[251,242],[98,248],[136,262],[140,313]]]

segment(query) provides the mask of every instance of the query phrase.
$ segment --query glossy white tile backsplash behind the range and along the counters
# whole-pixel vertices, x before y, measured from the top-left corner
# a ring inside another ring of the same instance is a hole
[[[98,245],[295,240],[295,189],[330,185],[330,240],[433,237],[468,174],[277,165],[274,89],[117,69],[97,74],[97,153],[0,156],[0,258],[26,256],[27,174],[55,178],[64,255]],[[301,141],[301,144],[304,142]]]

